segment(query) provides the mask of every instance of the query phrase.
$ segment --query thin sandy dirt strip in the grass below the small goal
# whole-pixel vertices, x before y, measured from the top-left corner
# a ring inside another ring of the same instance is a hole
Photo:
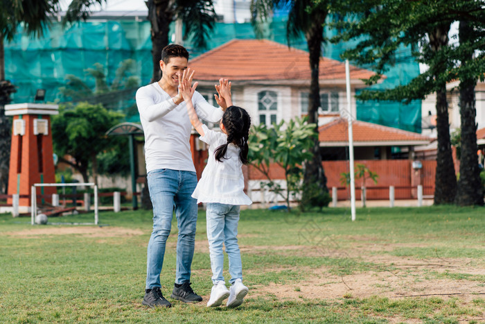
[[[35,237],[39,235],[80,235],[83,237],[129,237],[143,235],[145,232],[139,229],[98,226],[76,227],[52,227],[33,228],[32,230],[20,230],[18,232],[3,232],[2,235],[15,237]]]

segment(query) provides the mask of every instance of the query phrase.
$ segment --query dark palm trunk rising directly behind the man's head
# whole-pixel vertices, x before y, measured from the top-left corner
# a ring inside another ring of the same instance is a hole
[[[161,78],[161,50],[168,45],[168,31],[170,30],[170,22],[173,22],[175,17],[175,12],[173,11],[173,0],[148,0],[146,4],[152,37],[153,73],[150,83],[154,83]]]

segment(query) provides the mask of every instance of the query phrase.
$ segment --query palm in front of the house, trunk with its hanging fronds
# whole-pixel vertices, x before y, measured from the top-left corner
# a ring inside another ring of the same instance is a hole
[[[320,143],[318,139],[318,108],[320,106],[319,63],[324,38],[324,24],[328,15],[330,1],[321,0],[315,6],[313,0],[252,0],[252,22],[256,33],[261,35],[261,22],[272,13],[272,8],[289,8],[287,23],[288,46],[292,40],[304,35],[310,58],[310,94],[308,98],[308,122],[315,125],[312,137],[311,158],[305,163],[303,180],[303,199],[308,203],[317,196],[328,194],[326,176],[321,165]]]

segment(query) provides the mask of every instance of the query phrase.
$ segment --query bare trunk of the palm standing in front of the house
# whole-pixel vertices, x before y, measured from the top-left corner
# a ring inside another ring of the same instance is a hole
[[[318,139],[318,108],[320,106],[320,87],[319,87],[319,63],[321,57],[321,44],[324,42],[324,30],[318,22],[324,21],[315,19],[315,24],[306,33],[306,42],[310,55],[310,96],[308,98],[308,122],[315,123],[315,136],[312,148],[313,157],[305,164],[303,173],[303,197],[302,201],[311,201],[317,187],[319,191],[328,192],[327,179],[324,168],[321,166],[320,142]],[[317,186],[315,186],[317,185]]]

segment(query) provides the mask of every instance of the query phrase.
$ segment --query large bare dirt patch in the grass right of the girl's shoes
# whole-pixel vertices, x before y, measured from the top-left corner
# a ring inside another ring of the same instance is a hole
[[[308,271],[310,275],[306,280],[292,282],[290,284],[268,284],[251,287],[251,297],[274,296],[280,300],[324,299],[342,301],[344,298],[369,298],[371,296],[386,297],[392,300],[400,298],[457,298],[458,304],[473,307],[473,300],[485,298],[483,282],[473,280],[453,280],[448,278],[436,278],[429,275],[429,271],[454,271],[459,273],[481,274],[483,268],[466,267],[464,259],[422,260],[398,258],[387,256],[375,257],[375,261],[382,264],[395,264],[392,271],[365,271],[351,275],[334,275],[329,268],[294,268],[294,271]],[[437,263],[441,262],[441,264]],[[461,265],[461,266],[460,266]],[[267,271],[279,271],[281,269],[267,269]],[[286,268],[288,270],[288,268]],[[476,307],[475,307],[476,308]],[[474,316],[463,315],[466,319],[460,322],[477,319]],[[485,317],[485,310],[483,316]],[[385,318],[390,323],[422,323],[416,318]]]

